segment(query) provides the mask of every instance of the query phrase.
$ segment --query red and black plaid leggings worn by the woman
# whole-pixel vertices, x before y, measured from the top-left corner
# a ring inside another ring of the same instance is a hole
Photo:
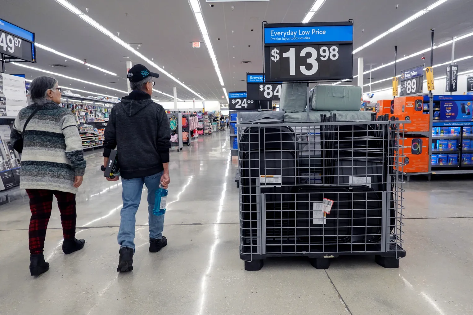
[[[64,238],[76,236],[76,195],[49,189],[26,189],[30,198],[31,221],[29,226],[29,250],[31,255],[42,254],[46,229],[48,227],[53,195],[58,200],[61,212],[62,232]]]

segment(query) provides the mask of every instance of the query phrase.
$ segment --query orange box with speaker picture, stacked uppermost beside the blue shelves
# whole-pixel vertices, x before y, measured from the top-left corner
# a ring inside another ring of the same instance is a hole
[[[422,96],[402,96],[394,99],[394,116],[399,120],[410,120],[404,125],[407,132],[428,132],[429,114],[424,114]]]

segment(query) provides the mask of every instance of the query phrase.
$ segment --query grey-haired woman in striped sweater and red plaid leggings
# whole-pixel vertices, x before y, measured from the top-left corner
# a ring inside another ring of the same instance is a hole
[[[14,147],[23,139],[20,188],[25,188],[30,198],[29,268],[31,275],[36,276],[49,269],[43,248],[53,195],[61,212],[62,251],[70,254],[84,247],[85,241],[75,235],[76,193],[82,184],[86,161],[76,118],[58,105],[61,89],[57,80],[35,78],[30,94],[33,103],[18,113],[10,138]]]

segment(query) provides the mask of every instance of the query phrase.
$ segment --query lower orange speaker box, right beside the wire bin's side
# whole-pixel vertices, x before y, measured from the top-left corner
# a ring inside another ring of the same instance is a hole
[[[429,171],[429,138],[428,137],[407,137],[399,140],[401,161],[405,165],[400,165],[399,170],[405,173],[422,173]]]

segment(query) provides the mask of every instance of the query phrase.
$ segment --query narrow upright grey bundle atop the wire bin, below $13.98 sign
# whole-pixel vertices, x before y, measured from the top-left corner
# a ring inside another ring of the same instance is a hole
[[[306,111],[307,83],[283,83],[279,108],[287,113]]]

